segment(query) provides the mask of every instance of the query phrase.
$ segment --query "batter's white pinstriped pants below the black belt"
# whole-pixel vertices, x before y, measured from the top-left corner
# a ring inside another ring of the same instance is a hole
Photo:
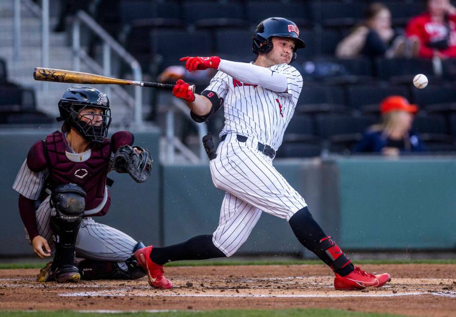
[[[272,166],[272,159],[258,150],[258,140],[239,142],[228,134],[211,160],[212,182],[226,191],[214,245],[227,256],[247,240],[261,211],[285,218],[307,206],[299,193]]]

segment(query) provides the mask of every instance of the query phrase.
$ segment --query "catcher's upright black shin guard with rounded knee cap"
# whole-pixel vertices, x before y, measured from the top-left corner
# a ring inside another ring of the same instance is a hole
[[[79,282],[81,275],[75,266],[75,243],[85,208],[85,192],[76,184],[59,185],[51,194],[50,218],[55,256],[52,263],[57,282]]]

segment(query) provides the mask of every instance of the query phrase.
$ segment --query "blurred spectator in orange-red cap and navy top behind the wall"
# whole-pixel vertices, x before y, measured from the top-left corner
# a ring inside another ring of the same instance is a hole
[[[380,104],[382,122],[371,126],[355,146],[355,152],[377,152],[397,156],[403,152],[423,151],[417,134],[410,131],[418,107],[402,96],[390,96]]]

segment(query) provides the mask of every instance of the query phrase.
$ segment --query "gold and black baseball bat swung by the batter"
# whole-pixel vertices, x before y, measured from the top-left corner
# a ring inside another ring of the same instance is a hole
[[[85,84],[115,84],[115,85],[134,85],[141,87],[153,87],[162,89],[173,89],[174,85],[169,83],[148,83],[128,81],[106,76],[100,76],[79,71],[52,69],[36,67],[33,71],[33,78],[37,81],[55,82],[55,83],[85,83]],[[189,87],[195,91],[195,85]]]

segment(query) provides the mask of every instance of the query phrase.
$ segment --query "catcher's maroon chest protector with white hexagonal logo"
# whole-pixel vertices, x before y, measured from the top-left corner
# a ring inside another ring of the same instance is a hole
[[[91,149],[90,157],[82,162],[73,162],[65,154],[67,148],[64,133],[54,132],[46,137],[49,176],[47,182],[52,186],[73,183],[81,186],[86,192],[85,215],[103,216],[111,205],[110,193],[106,187],[109,159],[111,156],[111,140],[106,139],[102,144]],[[106,197],[105,197],[106,195]],[[104,206],[97,212],[103,201]],[[98,208],[97,208],[98,209]],[[92,211],[92,213],[87,213]]]

